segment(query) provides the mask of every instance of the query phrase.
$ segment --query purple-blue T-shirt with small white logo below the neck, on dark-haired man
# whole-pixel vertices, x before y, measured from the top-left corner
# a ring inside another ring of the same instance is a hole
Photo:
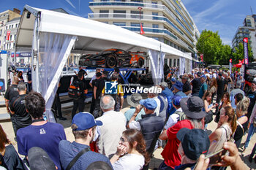
[[[28,155],[31,147],[41,147],[48,153],[53,163],[61,169],[59,161],[59,142],[66,140],[64,128],[59,123],[45,123],[44,125],[29,125],[17,131],[18,152]]]

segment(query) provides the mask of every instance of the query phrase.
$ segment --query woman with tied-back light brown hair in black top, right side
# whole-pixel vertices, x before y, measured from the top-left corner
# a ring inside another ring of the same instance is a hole
[[[238,118],[237,118],[237,128],[236,128],[234,140],[237,148],[241,144],[241,140],[242,140],[242,137],[244,136],[244,132],[247,130],[248,117],[246,117],[246,114],[247,114],[248,107],[249,107],[249,98],[247,97],[244,97],[236,105],[236,116]]]

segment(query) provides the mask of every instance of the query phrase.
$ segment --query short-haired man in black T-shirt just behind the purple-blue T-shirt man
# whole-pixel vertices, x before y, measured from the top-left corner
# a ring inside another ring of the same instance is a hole
[[[26,85],[24,82],[18,84],[19,96],[10,101],[10,112],[15,119],[15,136],[19,128],[31,125],[32,120],[25,107]]]

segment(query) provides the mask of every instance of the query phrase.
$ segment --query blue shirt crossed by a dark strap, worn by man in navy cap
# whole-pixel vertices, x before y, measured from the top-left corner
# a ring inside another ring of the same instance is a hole
[[[59,155],[61,158],[62,167],[67,169],[67,166],[72,161],[72,159],[75,158],[75,156],[78,155],[78,153],[86,147],[89,148],[88,145],[79,144],[75,141],[72,143],[66,140],[59,142]],[[72,169],[86,169],[91,163],[97,161],[106,162],[112,168],[109,159],[105,155],[93,151],[88,151],[80,156],[78,161],[76,161],[74,166],[72,166]]]

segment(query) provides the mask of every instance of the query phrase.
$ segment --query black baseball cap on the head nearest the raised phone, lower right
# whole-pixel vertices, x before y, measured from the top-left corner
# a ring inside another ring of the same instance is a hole
[[[177,133],[184,154],[191,160],[197,160],[201,154],[206,154],[210,147],[210,139],[206,131],[199,128],[181,128]]]

